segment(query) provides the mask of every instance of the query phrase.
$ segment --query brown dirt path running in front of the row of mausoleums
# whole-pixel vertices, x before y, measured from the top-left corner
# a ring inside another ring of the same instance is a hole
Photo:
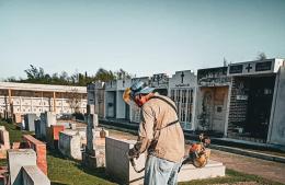
[[[137,139],[137,137],[132,134],[116,130],[111,130],[110,136],[122,139]],[[185,148],[189,146],[186,146]],[[259,175],[275,182],[285,183],[284,163],[265,161],[213,149],[210,159],[223,162],[227,169],[231,169],[248,174]]]

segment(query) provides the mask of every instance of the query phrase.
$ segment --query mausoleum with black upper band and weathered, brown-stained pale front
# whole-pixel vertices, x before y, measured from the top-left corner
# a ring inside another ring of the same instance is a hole
[[[200,69],[197,71],[196,129],[227,135],[228,102],[231,78],[228,67]]]

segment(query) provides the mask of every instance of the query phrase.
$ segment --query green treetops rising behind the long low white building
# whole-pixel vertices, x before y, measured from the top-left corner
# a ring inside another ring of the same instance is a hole
[[[30,68],[24,70],[26,73],[26,79],[19,79],[10,77],[5,79],[7,82],[23,82],[23,83],[41,83],[41,84],[60,84],[60,85],[79,85],[86,86],[88,83],[94,81],[110,81],[123,78],[130,78],[132,76],[123,69],[116,72],[106,70],[104,68],[98,69],[94,76],[88,76],[87,72],[80,73],[75,72],[73,74],[68,74],[66,71],[60,73],[46,73],[42,67],[35,67],[30,65]]]

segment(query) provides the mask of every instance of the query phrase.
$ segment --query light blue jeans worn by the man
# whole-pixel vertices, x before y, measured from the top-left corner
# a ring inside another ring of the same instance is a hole
[[[181,163],[171,162],[153,155],[146,161],[144,185],[175,185]]]

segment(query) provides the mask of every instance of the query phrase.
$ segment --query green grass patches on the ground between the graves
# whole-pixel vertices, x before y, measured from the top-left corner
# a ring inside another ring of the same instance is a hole
[[[31,134],[16,129],[13,124],[0,120],[0,125],[5,126],[10,132],[11,142],[21,141],[23,134]],[[0,165],[7,165],[5,160],[0,160]],[[52,185],[112,185],[115,184],[111,176],[105,174],[104,167],[90,170],[82,167],[79,161],[65,158],[58,151],[47,152],[48,177]],[[226,170],[225,177],[191,181],[180,183],[180,185],[205,185],[205,184],[232,184],[237,182],[256,182],[261,185],[282,185],[256,175],[249,175],[233,170]]]

